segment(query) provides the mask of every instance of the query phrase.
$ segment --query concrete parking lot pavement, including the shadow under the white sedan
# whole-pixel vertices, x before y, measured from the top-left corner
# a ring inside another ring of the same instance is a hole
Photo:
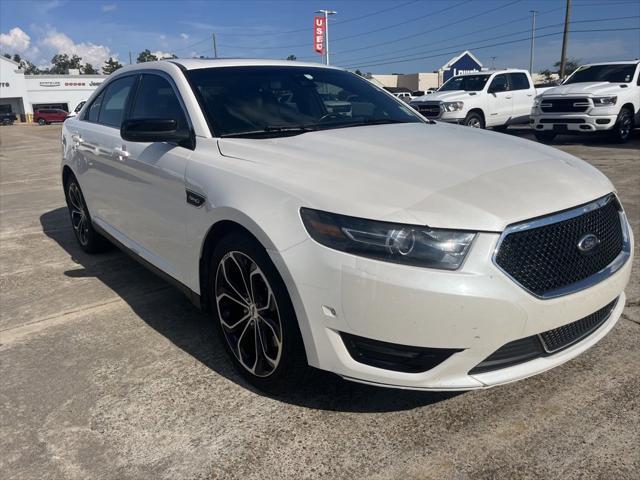
[[[59,137],[0,129],[3,479],[638,478],[638,257],[613,331],[542,375],[445,394],[317,373],[269,397],[180,292],[117,250],[76,246]],[[640,132],[555,146],[612,179],[640,238]]]

